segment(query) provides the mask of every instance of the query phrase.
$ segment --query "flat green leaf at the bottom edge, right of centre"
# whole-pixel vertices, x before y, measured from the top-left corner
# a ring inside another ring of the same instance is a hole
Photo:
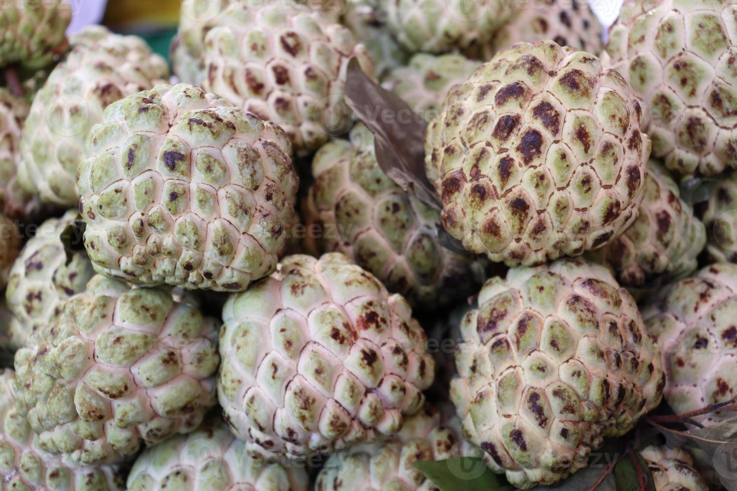
[[[440,491],[514,491],[514,486],[493,473],[480,457],[415,462],[414,466]]]

